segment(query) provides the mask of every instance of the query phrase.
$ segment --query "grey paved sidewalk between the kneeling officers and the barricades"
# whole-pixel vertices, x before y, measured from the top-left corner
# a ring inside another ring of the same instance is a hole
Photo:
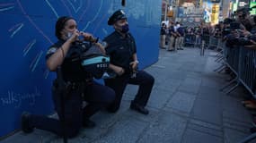
[[[159,61],[147,68],[155,85],[147,107],[150,114],[128,109],[137,86],[128,86],[117,114],[93,116],[94,129],[81,130],[71,143],[236,143],[250,135],[252,115],[241,104],[243,88],[219,92],[228,76],[213,70],[216,53],[199,55],[198,48],[177,53],[160,49]],[[60,143],[44,130],[21,131],[1,143]],[[253,142],[253,141],[252,141]],[[256,142],[256,140],[255,140]]]

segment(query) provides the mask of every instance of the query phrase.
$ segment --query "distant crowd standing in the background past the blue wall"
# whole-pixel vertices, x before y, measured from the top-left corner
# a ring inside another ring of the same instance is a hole
[[[168,51],[176,51],[183,49],[183,46],[196,46],[200,47],[202,40],[205,41],[206,46],[209,45],[209,38],[221,37],[221,26],[223,22],[215,26],[209,23],[201,23],[197,26],[182,26],[180,22],[173,24],[169,22],[168,26],[163,22],[160,32],[160,47],[166,48]]]

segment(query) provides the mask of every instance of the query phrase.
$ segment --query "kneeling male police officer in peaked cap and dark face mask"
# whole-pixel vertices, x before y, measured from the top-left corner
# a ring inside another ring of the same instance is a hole
[[[133,84],[139,88],[135,99],[131,101],[130,109],[148,114],[145,106],[154,86],[154,77],[146,71],[137,71],[137,46],[135,39],[128,32],[126,14],[122,10],[116,11],[110,16],[108,25],[112,25],[115,31],[103,41],[106,42],[106,54],[110,55],[110,69],[117,74],[115,78],[105,80],[105,85],[116,92],[116,98],[108,107],[108,111],[118,111],[127,84]]]

